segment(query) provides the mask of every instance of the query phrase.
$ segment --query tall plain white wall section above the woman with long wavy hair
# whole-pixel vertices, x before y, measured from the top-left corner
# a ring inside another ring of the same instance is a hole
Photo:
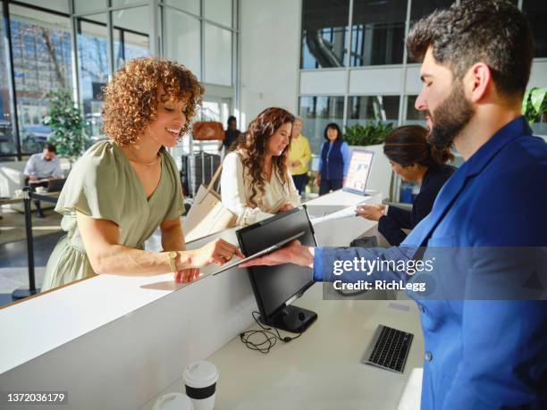
[[[298,112],[299,0],[240,2],[240,129],[269,106]]]

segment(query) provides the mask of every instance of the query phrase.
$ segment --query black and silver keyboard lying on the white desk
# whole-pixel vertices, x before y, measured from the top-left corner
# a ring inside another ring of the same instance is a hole
[[[379,324],[361,363],[402,373],[414,335]]]

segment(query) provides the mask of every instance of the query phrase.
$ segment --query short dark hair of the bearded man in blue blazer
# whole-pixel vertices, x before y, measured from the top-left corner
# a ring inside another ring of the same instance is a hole
[[[421,61],[429,46],[456,79],[482,62],[501,96],[524,95],[534,39],[525,15],[509,0],[464,0],[417,21],[408,34],[408,54]]]

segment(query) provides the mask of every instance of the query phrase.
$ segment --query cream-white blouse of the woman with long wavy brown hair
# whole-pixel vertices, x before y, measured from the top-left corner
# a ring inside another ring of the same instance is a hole
[[[226,155],[221,176],[223,205],[238,215],[239,225],[248,225],[268,218],[285,204],[300,205],[299,191],[294,186],[289,169],[287,169],[288,182],[283,182],[274,165],[272,177],[269,181],[265,181],[264,195],[258,190],[257,197],[254,198],[258,206],[251,205],[252,178],[247,171],[244,172],[240,155],[243,154],[238,151]]]

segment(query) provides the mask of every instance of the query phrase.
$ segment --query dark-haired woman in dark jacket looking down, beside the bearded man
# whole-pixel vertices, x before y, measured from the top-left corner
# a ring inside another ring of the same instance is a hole
[[[378,231],[392,246],[407,238],[403,230],[412,230],[433,208],[437,194],[456,171],[448,161],[454,155],[450,148],[437,149],[427,141],[429,131],[419,125],[406,125],[392,130],[385,137],[383,154],[393,172],[408,182],[420,184],[420,192],[412,202],[412,211],[397,206],[364,205],[358,214],[369,221],[378,221]]]

